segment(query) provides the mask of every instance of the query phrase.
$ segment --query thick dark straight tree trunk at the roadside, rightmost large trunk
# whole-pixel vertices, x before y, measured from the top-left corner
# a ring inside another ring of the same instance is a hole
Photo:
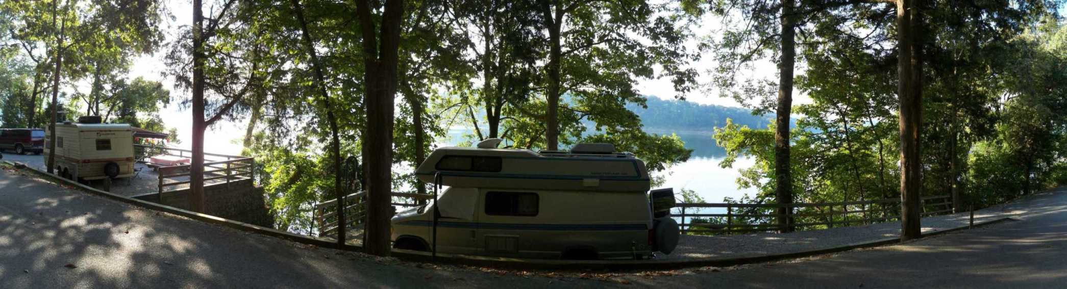
[[[917,0],[896,0],[897,21],[897,77],[899,83],[901,130],[901,240],[919,238],[921,232],[920,199],[922,193],[922,164],[920,135],[922,132],[922,49],[919,39],[922,29],[920,5]]]

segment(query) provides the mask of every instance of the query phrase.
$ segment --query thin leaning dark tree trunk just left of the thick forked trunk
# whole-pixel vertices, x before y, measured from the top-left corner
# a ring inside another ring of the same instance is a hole
[[[333,106],[330,103],[330,93],[327,92],[325,78],[322,76],[322,65],[319,63],[319,57],[315,52],[315,41],[312,39],[312,34],[307,32],[307,21],[304,20],[304,11],[300,6],[300,0],[291,0],[292,10],[297,14],[297,21],[300,23],[300,32],[304,36],[304,47],[307,48],[307,54],[312,58],[312,65],[315,66],[315,86],[317,91],[321,94],[320,98],[322,100],[323,109],[327,111],[327,119],[330,122],[330,134],[332,139],[330,155],[333,159],[333,171],[334,171],[334,197],[337,214],[337,247],[340,248],[345,246],[345,238],[348,235],[348,228],[346,227],[348,223],[345,220],[345,190],[341,187],[341,170],[340,170],[340,139],[337,137],[337,117],[334,116]]]

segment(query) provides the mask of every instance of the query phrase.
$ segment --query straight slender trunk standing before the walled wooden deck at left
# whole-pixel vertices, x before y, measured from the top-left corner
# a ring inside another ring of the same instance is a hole
[[[202,0],[193,0],[193,156],[189,167],[189,205],[204,212],[204,12]]]

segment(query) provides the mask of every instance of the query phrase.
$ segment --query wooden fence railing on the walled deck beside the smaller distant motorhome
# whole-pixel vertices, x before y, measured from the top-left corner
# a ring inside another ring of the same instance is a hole
[[[173,147],[133,145],[133,149],[137,160],[141,162],[147,162],[146,159],[154,156],[174,156],[180,158],[188,158],[192,156],[192,150]],[[229,183],[235,180],[252,179],[255,176],[255,158],[208,152],[204,152],[204,155],[217,159],[204,162],[204,182],[224,180],[224,182]],[[169,187],[189,184],[192,182],[191,180],[174,180],[175,178],[184,179],[191,176],[190,164],[155,164],[154,166],[159,173],[159,193],[163,193],[163,191],[165,191]]]

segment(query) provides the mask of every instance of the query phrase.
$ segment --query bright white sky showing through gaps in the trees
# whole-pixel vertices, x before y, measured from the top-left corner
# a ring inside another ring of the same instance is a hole
[[[213,1],[205,1],[204,14],[205,16],[213,15],[211,10],[213,5],[209,4]],[[163,31],[166,34],[166,42],[172,42],[177,35],[178,29],[181,26],[189,26],[192,23],[192,2],[189,0],[170,0],[166,1],[166,7],[173,17],[164,19]],[[717,23],[717,19],[706,18],[701,21],[703,23]],[[707,35],[712,33],[713,29],[710,27],[697,27],[694,28],[697,35]],[[690,49],[695,48],[697,45],[696,41],[690,41],[687,45]],[[133,61],[133,66],[130,69],[129,78],[143,77],[147,80],[155,80],[163,83],[163,86],[171,91],[171,95],[175,101],[163,109],[160,112],[160,117],[168,127],[174,127],[178,131],[179,144],[176,147],[189,147],[192,143],[192,115],[190,110],[181,108],[178,103],[180,99],[189,98],[188,91],[180,91],[174,89],[173,79],[163,77],[162,71],[165,68],[163,65],[163,55],[165,54],[166,48],[160,49],[155,54],[142,55]],[[699,80],[701,82],[707,81],[707,73],[712,68],[714,63],[710,60],[701,60],[692,64],[692,67],[697,68],[701,73]],[[800,71],[798,71],[800,73]],[[770,62],[757,63],[755,69],[748,71],[749,75],[754,76],[769,76],[775,77],[775,65]],[[678,92],[674,91],[673,84],[671,84],[669,79],[642,79],[636,83],[636,89],[644,95],[656,96],[664,99],[673,99]],[[740,105],[732,98],[721,98],[715,92],[708,92],[707,90],[700,90],[696,92],[690,92],[686,96],[686,100],[698,102],[702,105],[718,105],[726,107],[740,107]],[[799,103],[810,103],[811,100],[803,95],[794,96],[794,105]],[[241,150],[241,146],[235,140],[239,140],[244,135],[244,128],[246,127],[248,121],[242,119],[241,122],[227,122],[220,121],[214,126],[208,129],[205,133],[205,150],[208,152],[216,154],[238,154]]]

